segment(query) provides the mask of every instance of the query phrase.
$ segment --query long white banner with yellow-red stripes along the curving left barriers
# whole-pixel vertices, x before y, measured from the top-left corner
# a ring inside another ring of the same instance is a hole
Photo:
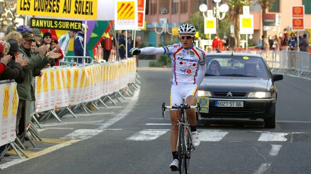
[[[85,67],[43,69],[43,76],[35,78],[36,112],[77,105],[113,94],[133,83],[135,77],[134,58]]]

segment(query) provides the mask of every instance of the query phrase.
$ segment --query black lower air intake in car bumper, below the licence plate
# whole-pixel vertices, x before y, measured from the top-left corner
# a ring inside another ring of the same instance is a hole
[[[213,114],[219,114],[219,115],[244,115],[244,114],[251,114],[253,109],[250,108],[209,108],[208,113],[213,113]]]

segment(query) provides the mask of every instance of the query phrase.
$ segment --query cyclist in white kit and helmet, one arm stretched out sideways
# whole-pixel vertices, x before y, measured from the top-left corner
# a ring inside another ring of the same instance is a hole
[[[144,47],[131,48],[132,55],[138,54],[168,54],[172,59],[171,78],[172,88],[170,96],[170,105],[180,105],[185,103],[188,105],[196,105],[197,90],[202,82],[206,72],[206,55],[205,52],[193,45],[196,29],[191,24],[181,25],[178,29],[180,43],[165,47]],[[193,109],[186,110],[190,123],[191,139],[193,146],[200,144],[199,134],[196,130],[196,114]],[[171,117],[171,148],[173,154],[173,162],[170,165],[172,171],[178,170],[178,153],[177,153],[177,138],[178,138],[178,119],[180,115],[177,110],[170,111]]]

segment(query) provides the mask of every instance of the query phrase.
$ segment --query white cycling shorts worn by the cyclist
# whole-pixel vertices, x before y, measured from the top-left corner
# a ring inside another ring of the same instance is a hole
[[[196,84],[191,85],[172,85],[171,96],[170,96],[170,106],[184,103],[183,98],[185,99],[193,95],[198,99],[198,86]]]

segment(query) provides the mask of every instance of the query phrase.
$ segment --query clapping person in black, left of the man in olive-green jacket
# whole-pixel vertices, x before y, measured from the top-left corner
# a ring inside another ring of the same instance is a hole
[[[19,54],[17,56],[17,51],[19,47],[16,40],[10,39],[8,40],[8,42],[0,41],[0,44],[8,45],[10,49],[8,50],[8,55],[6,56],[12,58],[11,61],[7,64],[7,68],[2,73],[0,80],[15,79],[17,83],[24,82],[25,73],[23,72],[22,66],[27,65],[29,60],[23,60],[22,54]]]

